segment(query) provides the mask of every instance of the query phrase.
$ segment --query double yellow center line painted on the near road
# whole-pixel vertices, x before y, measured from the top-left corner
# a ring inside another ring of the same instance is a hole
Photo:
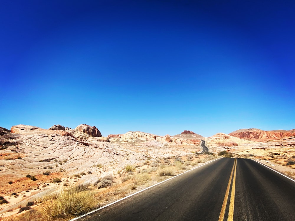
[[[224,200],[222,203],[221,207],[221,212],[219,215],[218,221],[223,221],[224,220],[224,213],[227,205],[227,199],[228,195],[230,193],[230,185],[232,183],[232,192],[230,194],[230,206],[228,209],[228,216],[227,216],[227,221],[232,221],[234,217],[234,204],[235,204],[235,186],[236,186],[236,170],[237,170],[237,159],[235,158],[234,165],[232,166],[232,172],[230,173],[230,180],[228,181],[227,184],[227,189],[225,192]],[[234,179],[232,181],[232,174],[234,174]]]

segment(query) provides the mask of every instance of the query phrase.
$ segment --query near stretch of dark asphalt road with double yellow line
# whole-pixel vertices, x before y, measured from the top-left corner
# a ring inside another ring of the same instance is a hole
[[[295,220],[295,182],[250,159],[221,158],[79,218]]]

